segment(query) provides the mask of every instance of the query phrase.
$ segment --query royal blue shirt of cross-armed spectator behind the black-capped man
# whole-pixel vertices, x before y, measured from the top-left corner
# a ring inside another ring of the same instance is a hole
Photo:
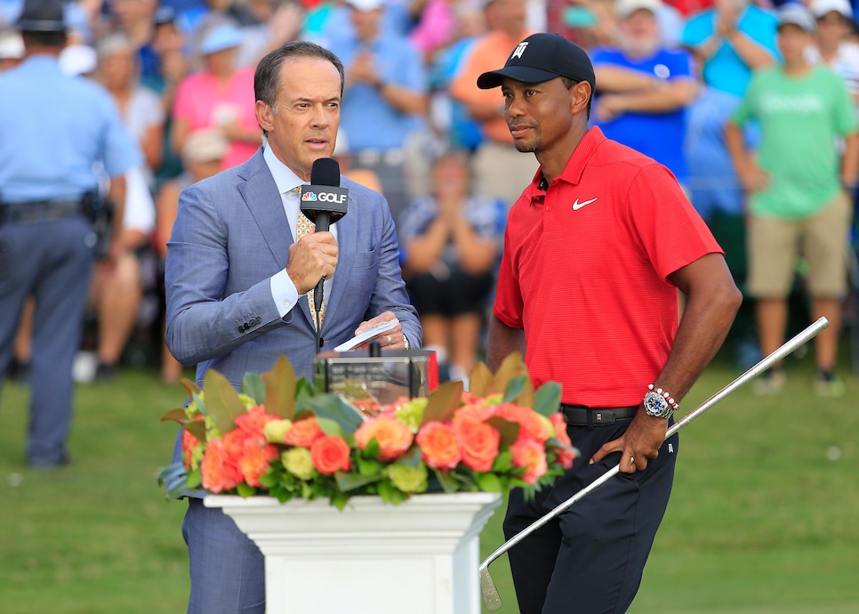
[[[694,79],[692,55],[680,49],[659,49],[646,58],[630,58],[620,49],[598,48],[592,53],[595,67],[600,64],[638,70],[664,80]],[[599,103],[599,94],[596,96]],[[683,157],[683,140],[686,133],[686,109],[666,113],[639,113],[627,111],[611,121],[601,122],[591,115],[606,138],[618,141],[645,156],[667,166],[678,182],[686,183],[688,173]]]

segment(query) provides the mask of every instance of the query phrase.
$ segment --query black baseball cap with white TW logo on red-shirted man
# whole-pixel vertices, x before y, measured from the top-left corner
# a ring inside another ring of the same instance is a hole
[[[587,81],[596,88],[596,77],[588,53],[559,34],[532,34],[516,45],[503,69],[490,70],[478,77],[481,90],[491,90],[510,77],[522,83],[542,83],[555,77]]]

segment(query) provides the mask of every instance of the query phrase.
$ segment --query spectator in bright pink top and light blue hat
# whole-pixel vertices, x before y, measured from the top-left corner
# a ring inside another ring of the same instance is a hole
[[[245,162],[260,147],[255,116],[253,69],[237,69],[240,29],[221,23],[205,35],[199,53],[205,68],[181,80],[173,101],[173,150],[190,133],[220,128],[229,140],[221,168]]]

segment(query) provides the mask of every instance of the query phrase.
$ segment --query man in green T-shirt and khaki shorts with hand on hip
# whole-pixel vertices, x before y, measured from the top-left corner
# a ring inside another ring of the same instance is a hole
[[[819,394],[837,396],[844,392],[834,369],[847,293],[849,193],[859,173],[859,136],[843,79],[805,58],[814,32],[814,17],[804,6],[783,5],[777,36],[783,65],[754,74],[727,122],[725,138],[747,192],[747,287],[757,299],[761,352],[766,356],[783,343],[787,296],[801,254],[808,265],[812,319],[823,316],[831,323],[815,339],[815,387]],[[743,142],[742,126],[750,120],[760,125],[757,152]],[[779,365],[756,390],[778,392],[784,380]]]

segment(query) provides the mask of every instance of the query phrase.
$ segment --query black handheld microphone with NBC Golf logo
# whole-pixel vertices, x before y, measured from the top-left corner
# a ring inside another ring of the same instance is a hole
[[[349,190],[340,187],[340,164],[333,158],[314,160],[310,184],[301,186],[301,213],[324,232],[346,214],[348,206]],[[319,279],[313,290],[313,307],[317,312],[322,309],[324,281]]]

